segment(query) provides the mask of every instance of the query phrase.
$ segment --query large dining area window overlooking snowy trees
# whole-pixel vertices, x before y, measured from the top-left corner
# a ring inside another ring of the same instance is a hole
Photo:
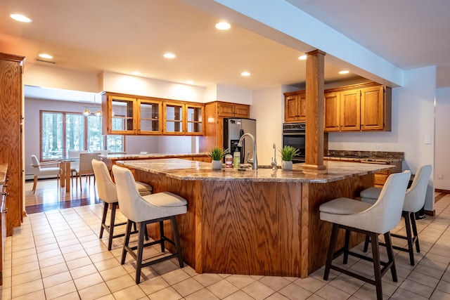
[[[58,159],[75,150],[124,151],[124,136],[103,136],[101,117],[41,110],[41,157]]]

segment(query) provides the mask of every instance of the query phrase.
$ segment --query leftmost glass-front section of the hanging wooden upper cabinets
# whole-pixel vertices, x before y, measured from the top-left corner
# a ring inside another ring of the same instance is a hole
[[[137,99],[113,93],[102,94],[103,134],[136,134]]]

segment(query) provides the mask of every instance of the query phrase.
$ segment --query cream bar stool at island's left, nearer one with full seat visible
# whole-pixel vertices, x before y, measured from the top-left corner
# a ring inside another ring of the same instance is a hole
[[[136,284],[141,281],[141,268],[150,266],[153,263],[159,263],[167,259],[177,257],[180,268],[183,268],[183,256],[181,255],[181,244],[176,223],[176,216],[186,214],[188,202],[183,197],[174,193],[163,192],[152,195],[141,196],[136,188],[133,174],[126,168],[113,165],[113,174],[117,185],[117,198],[120,204],[120,211],[127,217],[127,231],[125,233],[124,247],[122,250],[122,259],[120,263],[124,264],[129,253],[136,260]],[[172,224],[173,239],[170,240],[164,233],[163,221],[170,220]],[[129,246],[129,237],[131,234],[131,223],[139,223],[139,240],[135,247]],[[144,232],[147,224],[158,222],[160,225],[160,240],[144,244]],[[161,252],[165,253],[165,242],[174,245],[176,253],[162,256],[159,259],[153,259],[143,263],[143,248],[154,244],[161,245]],[[135,252],[136,250],[136,252]]]

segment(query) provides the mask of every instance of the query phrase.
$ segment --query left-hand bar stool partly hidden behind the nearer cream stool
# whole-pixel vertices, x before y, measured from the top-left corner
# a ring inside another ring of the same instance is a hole
[[[98,197],[103,200],[103,215],[101,218],[101,226],[100,226],[100,238],[103,237],[103,230],[109,234],[108,237],[108,250],[113,246],[113,239],[116,237],[123,237],[125,234],[121,233],[118,235],[114,235],[114,227],[125,225],[125,222],[115,223],[115,211],[117,206],[119,205],[119,200],[117,200],[117,188],[115,183],[111,179],[110,172],[108,171],[108,167],[104,162],[101,162],[97,159],[91,160],[92,169],[94,169],[94,176],[96,178],[96,188]],[[147,183],[136,182],[136,188],[139,191],[140,195],[150,195],[152,193],[153,188]],[[109,204],[111,207],[111,216],[110,216],[110,225],[106,225],[106,215],[108,214]],[[135,225],[136,226],[136,225]]]

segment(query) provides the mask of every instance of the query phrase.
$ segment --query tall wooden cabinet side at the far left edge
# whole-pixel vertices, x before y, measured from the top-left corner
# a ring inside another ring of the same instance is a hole
[[[8,164],[6,235],[23,221],[23,56],[0,53],[0,163]]]

